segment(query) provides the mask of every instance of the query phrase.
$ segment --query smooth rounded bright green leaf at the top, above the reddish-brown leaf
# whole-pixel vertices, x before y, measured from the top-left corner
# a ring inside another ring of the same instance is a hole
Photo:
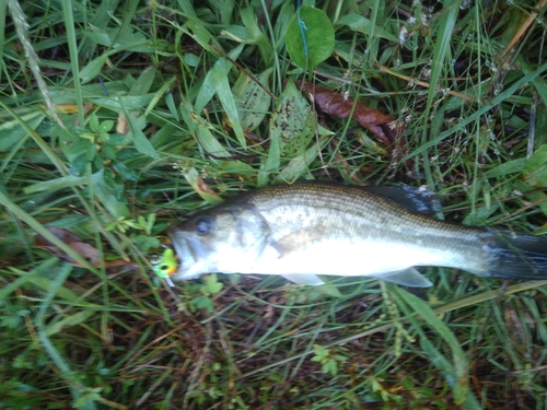
[[[287,51],[302,69],[313,69],[330,57],[335,49],[335,31],[328,16],[319,9],[302,5],[287,30]],[[305,45],[304,38],[305,37]]]

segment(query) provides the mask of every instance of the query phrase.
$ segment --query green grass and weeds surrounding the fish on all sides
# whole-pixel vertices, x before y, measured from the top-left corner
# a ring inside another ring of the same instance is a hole
[[[334,297],[168,288],[151,260],[176,220],[304,178],[428,185],[442,218],[543,233],[547,2],[304,1],[331,51],[293,1],[202,3],[21,2],[25,28],[0,0],[0,407],[544,409],[545,282],[426,269],[414,295]],[[405,121],[403,155],[315,114],[303,79]]]

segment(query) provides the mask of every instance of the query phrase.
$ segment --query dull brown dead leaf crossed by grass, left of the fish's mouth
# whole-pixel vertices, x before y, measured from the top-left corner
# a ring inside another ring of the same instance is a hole
[[[55,236],[57,236],[59,239],[61,239],[65,244],[67,244],[67,246],[72,248],[82,258],[86,259],[95,268],[98,268],[101,266],[102,257],[98,249],[96,249],[95,247],[91,246],[85,242],[82,242],[82,239],[79,236],[74,235],[69,231],[59,230],[53,226],[49,226],[47,230]],[[47,250],[50,254],[54,254],[55,256],[68,261],[69,263],[83,268],[83,266],[80,262],[75,261],[72,257],[70,257],[70,255],[65,254],[61,249],[59,249],[56,245],[51,244],[42,235],[36,236],[34,246]],[[118,260],[105,261],[104,265],[106,268],[113,268],[117,266],[126,266],[128,265],[128,262],[123,259],[118,259]]]

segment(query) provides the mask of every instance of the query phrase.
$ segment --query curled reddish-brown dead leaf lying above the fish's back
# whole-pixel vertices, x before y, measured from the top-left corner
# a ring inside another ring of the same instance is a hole
[[[348,118],[352,114],[352,117],[362,127],[374,133],[376,139],[391,150],[395,161],[405,155],[404,122],[397,121],[392,116],[371,108],[360,101],[356,103],[354,99],[347,98],[333,90],[302,81],[298,81],[296,86],[305,90],[309,98],[325,114],[338,118]]]

